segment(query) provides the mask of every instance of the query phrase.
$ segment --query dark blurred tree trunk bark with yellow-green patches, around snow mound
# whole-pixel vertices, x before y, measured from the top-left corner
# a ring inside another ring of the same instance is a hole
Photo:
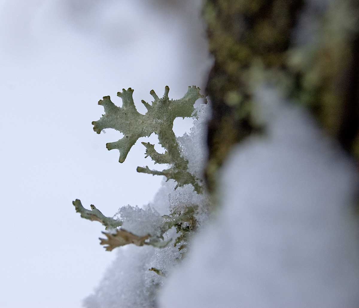
[[[328,3],[318,16],[316,43],[294,46],[304,0],[205,1],[203,15],[215,58],[206,87],[213,108],[206,168],[210,190],[232,145],[262,129],[252,108],[253,67],[271,71],[276,83],[285,81],[286,93],[308,106],[320,125],[359,158],[358,1],[322,2]]]

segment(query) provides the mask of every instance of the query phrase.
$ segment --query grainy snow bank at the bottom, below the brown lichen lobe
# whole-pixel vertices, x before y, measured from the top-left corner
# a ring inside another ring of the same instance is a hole
[[[168,247],[161,250],[151,246],[129,245],[117,249],[117,257],[107,270],[93,295],[84,300],[89,308],[152,307],[155,291],[162,284],[161,276],[149,271],[151,267],[171,265],[170,259],[178,249]],[[158,256],[162,260],[158,260]]]

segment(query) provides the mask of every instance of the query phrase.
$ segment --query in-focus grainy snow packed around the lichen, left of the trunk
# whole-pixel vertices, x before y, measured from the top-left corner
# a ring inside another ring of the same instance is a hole
[[[188,170],[202,179],[201,170],[207,155],[205,144],[206,120],[209,117],[209,106],[200,105],[196,108],[198,118],[189,134],[178,137],[183,155],[188,159]],[[122,228],[136,235],[156,234],[162,215],[170,214],[174,209],[188,205],[197,205],[197,224],[204,225],[208,219],[209,197],[206,193],[197,194],[191,185],[178,187],[176,182],[163,181],[162,187],[149,205],[123,206],[119,209],[118,218],[123,220]],[[165,234],[164,240],[175,239],[178,235],[172,228]],[[186,249],[181,252],[185,252]],[[156,307],[157,293],[167,277],[154,271],[155,267],[168,275],[174,267],[181,264],[182,254],[178,247],[169,244],[165,248],[152,246],[137,247],[127,245],[116,248],[116,260],[106,271],[102,281],[94,293],[84,300],[87,308],[117,307]]]

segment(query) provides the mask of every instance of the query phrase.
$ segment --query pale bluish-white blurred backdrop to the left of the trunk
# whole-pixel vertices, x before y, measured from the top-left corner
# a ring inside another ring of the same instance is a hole
[[[115,255],[71,201],[112,216],[147,204],[162,179],[135,171],[152,165],[144,140],[123,164],[107,151],[121,134],[92,130],[97,101],[121,104],[117,91],[131,87],[144,113],[151,89],[203,90],[211,60],[200,9],[200,0],[0,1],[0,307],[80,307],[98,284]],[[190,124],[176,120],[176,133]]]

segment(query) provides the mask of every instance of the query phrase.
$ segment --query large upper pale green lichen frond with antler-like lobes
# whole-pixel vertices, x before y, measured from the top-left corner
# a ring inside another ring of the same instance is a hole
[[[162,98],[159,98],[154,90],[150,94],[154,98],[152,104],[142,101],[147,108],[145,115],[136,110],[132,93],[134,90],[122,89],[117,96],[122,98],[122,107],[117,107],[109,96],[104,96],[98,102],[103,106],[105,114],[98,121],[93,121],[93,130],[98,134],[103,129],[112,128],[123,133],[123,138],[106,144],[108,150],[120,151],[119,162],[123,163],[131,147],[140,137],[158,135],[159,143],[165,148],[165,153],[158,153],[154,145],[142,143],[146,148],[146,157],[151,157],[155,163],[169,164],[170,167],[163,171],[151,170],[146,167],[137,167],[137,172],[153,175],[163,175],[167,179],[174,179],[177,187],[191,184],[196,192],[201,192],[200,180],[188,172],[188,161],[181,155],[180,147],[173,132],[173,121],[177,117],[191,117],[195,111],[193,105],[197,99],[202,98],[200,88],[188,87],[187,93],[177,100],[169,99],[169,87],[166,86]]]

